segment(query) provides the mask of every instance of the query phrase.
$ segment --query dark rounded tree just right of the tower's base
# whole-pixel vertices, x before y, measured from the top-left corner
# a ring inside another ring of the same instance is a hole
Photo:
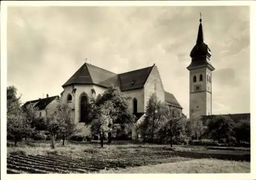
[[[234,136],[234,121],[228,116],[214,116],[209,122],[206,133],[219,142],[221,139],[229,140]]]

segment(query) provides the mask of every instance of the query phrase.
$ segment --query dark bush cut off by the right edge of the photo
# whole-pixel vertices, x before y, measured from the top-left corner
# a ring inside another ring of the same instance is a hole
[[[245,119],[239,121],[234,127],[234,133],[238,143],[242,141],[250,142],[250,120]]]

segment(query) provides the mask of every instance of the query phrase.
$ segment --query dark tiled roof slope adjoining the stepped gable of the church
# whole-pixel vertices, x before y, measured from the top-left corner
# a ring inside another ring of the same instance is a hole
[[[128,91],[142,88],[148,75],[150,75],[153,66],[119,74],[120,90]]]

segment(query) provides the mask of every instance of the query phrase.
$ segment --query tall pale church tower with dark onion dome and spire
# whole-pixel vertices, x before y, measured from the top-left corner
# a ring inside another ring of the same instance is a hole
[[[201,16],[201,13],[200,13]],[[202,19],[197,35],[197,42],[190,52],[189,71],[189,118],[211,115],[212,71],[211,52],[204,43]]]

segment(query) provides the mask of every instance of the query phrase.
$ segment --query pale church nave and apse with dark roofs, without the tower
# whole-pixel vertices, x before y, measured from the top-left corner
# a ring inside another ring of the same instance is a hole
[[[111,85],[118,86],[125,96],[132,98],[129,110],[137,117],[137,120],[143,118],[147,101],[153,93],[156,93],[160,101],[177,108],[182,116],[182,106],[173,94],[164,91],[155,64],[147,68],[116,74],[84,63],[62,85],[63,92],[60,97],[60,103],[68,103],[72,108],[72,117],[78,123],[78,127],[82,129],[83,134],[90,134],[90,127],[83,124],[83,120],[86,118],[87,104]]]

